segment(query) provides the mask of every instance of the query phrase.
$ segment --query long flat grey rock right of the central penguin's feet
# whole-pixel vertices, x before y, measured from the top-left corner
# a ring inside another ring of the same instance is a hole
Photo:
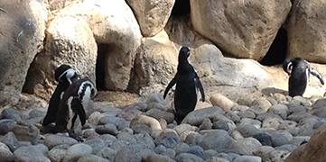
[[[204,119],[209,118],[211,121],[216,121],[221,114],[223,114],[221,108],[217,106],[208,107],[188,113],[182,123],[199,126]]]

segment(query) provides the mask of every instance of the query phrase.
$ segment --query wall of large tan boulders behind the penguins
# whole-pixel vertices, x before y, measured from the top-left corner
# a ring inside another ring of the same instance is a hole
[[[3,0],[0,106],[22,92],[49,99],[61,64],[99,90],[160,93],[181,46],[207,91],[273,86],[257,61],[278,31],[288,57],[325,63],[325,17],[321,0]]]

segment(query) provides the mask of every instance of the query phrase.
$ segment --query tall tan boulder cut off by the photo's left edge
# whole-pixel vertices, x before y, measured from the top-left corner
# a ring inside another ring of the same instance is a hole
[[[2,0],[0,6],[0,107],[18,102],[35,55],[42,50],[45,1]]]

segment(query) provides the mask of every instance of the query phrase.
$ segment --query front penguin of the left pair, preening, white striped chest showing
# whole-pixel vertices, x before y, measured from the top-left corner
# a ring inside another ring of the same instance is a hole
[[[98,93],[94,84],[88,79],[73,82],[63,94],[59,104],[53,133],[67,130],[70,137],[82,141],[75,132],[79,126],[86,123],[86,112],[91,97]]]

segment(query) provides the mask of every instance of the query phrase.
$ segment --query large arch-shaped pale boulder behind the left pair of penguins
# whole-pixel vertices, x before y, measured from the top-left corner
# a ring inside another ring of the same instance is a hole
[[[103,79],[99,82],[106,89],[126,90],[141,38],[135,15],[124,0],[72,3],[49,24],[46,49],[33,62],[26,92],[42,91],[35,94],[49,98],[54,69],[63,63],[94,83],[99,71],[96,81]],[[106,48],[98,51],[98,46]]]

